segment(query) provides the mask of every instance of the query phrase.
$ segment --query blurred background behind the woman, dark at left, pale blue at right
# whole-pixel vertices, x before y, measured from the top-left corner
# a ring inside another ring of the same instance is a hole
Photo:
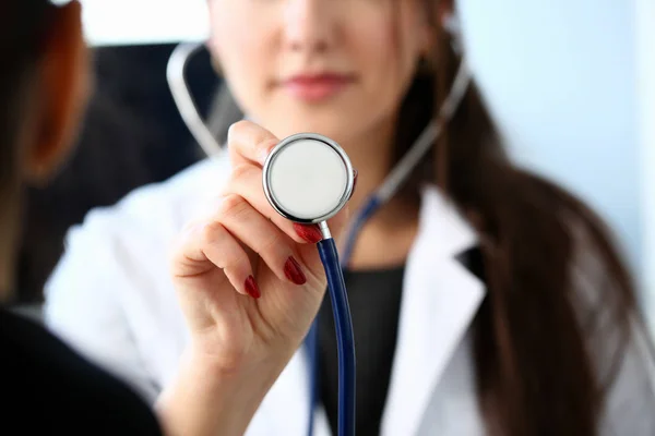
[[[96,94],[75,158],[56,183],[29,192],[24,302],[41,299],[67,229],[91,207],[203,157],[165,74],[176,44],[206,37],[205,0],[82,3]],[[457,4],[476,80],[512,153],[609,221],[655,324],[655,1]],[[206,111],[219,81],[206,53],[188,77]]]

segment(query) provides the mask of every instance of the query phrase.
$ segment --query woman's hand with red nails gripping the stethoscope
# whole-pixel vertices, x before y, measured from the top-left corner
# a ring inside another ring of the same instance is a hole
[[[327,284],[314,245],[322,239],[318,226],[283,217],[262,190],[265,158],[278,143],[251,122],[233,126],[228,140],[233,171],[219,204],[182,232],[174,255],[172,278],[192,342],[196,351],[214,355],[225,371],[257,368],[272,362],[275,353],[286,363],[306,336]],[[308,147],[298,152],[307,153]],[[279,165],[278,171],[285,171]],[[337,202],[349,196],[353,178],[343,175],[342,192],[324,187],[319,196],[332,195]],[[296,181],[291,175],[274,183],[284,196],[294,191]],[[307,180],[307,193],[309,185]],[[330,217],[333,232],[343,229],[345,215],[341,210]]]

